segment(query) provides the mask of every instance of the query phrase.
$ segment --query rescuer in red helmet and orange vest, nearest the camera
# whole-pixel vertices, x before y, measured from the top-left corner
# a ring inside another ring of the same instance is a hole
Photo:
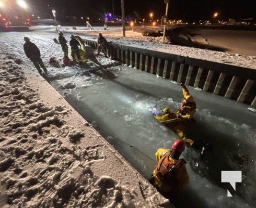
[[[185,142],[177,139],[172,144],[172,150],[159,148],[155,153],[157,165],[149,181],[159,191],[178,192],[187,187],[189,175],[185,166],[186,161],[179,159],[184,149]]]

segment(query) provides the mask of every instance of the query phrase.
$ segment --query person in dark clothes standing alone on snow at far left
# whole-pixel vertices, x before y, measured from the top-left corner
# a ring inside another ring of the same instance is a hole
[[[34,66],[37,68],[39,74],[42,75],[42,70],[41,70],[41,68],[42,68],[44,73],[46,75],[48,75],[47,69],[45,68],[43,61],[41,59],[41,54],[40,54],[40,50],[38,49],[38,47],[34,43],[30,42],[28,37],[24,37],[24,41],[26,42],[23,45],[25,54],[33,62]]]

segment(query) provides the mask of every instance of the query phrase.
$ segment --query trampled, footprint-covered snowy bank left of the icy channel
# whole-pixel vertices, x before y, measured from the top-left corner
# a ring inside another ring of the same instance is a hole
[[[172,207],[41,76],[0,60],[0,207]]]

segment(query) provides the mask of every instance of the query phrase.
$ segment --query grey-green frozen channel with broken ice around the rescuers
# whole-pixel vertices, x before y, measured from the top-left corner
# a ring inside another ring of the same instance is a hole
[[[67,83],[76,87],[60,87]],[[179,83],[128,66],[113,66],[52,85],[146,178],[156,165],[156,150],[170,148],[178,138],[149,109],[175,111],[182,100]],[[188,161],[189,187],[173,196],[172,203],[176,207],[255,207],[255,109],[199,88],[189,90],[197,105],[189,135],[211,142],[213,151],[200,159],[191,147],[186,148],[182,157]],[[242,171],[242,183],[236,183],[233,197],[227,197],[231,186],[221,183],[221,171]]]

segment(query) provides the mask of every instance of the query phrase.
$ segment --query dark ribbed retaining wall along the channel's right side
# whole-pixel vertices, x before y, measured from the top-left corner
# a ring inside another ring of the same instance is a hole
[[[97,48],[96,41],[84,40]],[[109,43],[108,53],[139,70],[256,106],[256,70]]]

